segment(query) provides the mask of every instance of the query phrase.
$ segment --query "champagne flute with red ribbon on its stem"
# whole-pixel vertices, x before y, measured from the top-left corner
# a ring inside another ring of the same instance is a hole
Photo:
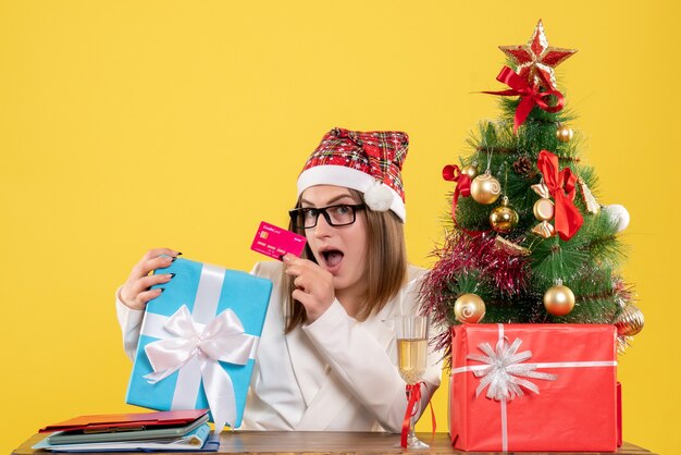
[[[395,317],[395,337],[397,339],[397,358],[399,376],[407,382],[407,399],[411,390],[420,388],[419,382],[425,372],[428,356],[428,318],[425,316]],[[414,416],[420,403],[417,403],[409,418],[409,433],[407,448],[428,448],[429,445],[420,441],[413,432]]]

